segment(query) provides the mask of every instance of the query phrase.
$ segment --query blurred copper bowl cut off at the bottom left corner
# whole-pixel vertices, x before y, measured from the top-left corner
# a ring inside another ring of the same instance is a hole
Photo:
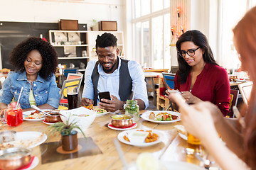
[[[31,162],[32,149],[11,147],[0,150],[0,169],[19,169]]]

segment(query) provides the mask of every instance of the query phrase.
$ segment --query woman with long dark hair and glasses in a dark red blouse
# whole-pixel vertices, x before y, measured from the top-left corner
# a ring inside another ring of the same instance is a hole
[[[213,58],[206,35],[199,30],[188,30],[176,42],[178,72],[174,89],[181,91],[187,103],[214,103],[223,115],[228,114],[230,84],[228,73]],[[171,102],[173,98],[168,96]]]

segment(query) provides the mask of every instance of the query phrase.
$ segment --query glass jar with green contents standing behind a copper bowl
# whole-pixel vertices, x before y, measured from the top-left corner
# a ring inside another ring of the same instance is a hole
[[[127,100],[124,111],[126,115],[133,115],[135,122],[139,120],[139,105],[137,101]]]

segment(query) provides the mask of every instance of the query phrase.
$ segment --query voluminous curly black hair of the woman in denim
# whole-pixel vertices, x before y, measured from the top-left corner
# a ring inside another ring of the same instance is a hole
[[[14,48],[10,55],[10,62],[14,66],[14,71],[25,71],[24,62],[32,50],[38,50],[43,58],[42,69],[38,74],[43,79],[50,79],[58,67],[58,54],[49,42],[41,38],[28,38]]]

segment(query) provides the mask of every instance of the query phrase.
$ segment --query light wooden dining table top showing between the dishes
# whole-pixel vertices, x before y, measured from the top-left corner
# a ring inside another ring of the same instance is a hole
[[[141,113],[144,111],[141,111]],[[33,148],[33,155],[38,157],[39,164],[36,169],[42,170],[56,170],[56,169],[122,169],[123,165],[119,159],[117,150],[114,147],[114,139],[117,139],[119,132],[117,130],[111,130],[107,128],[107,124],[110,123],[110,115],[103,115],[102,117],[95,118],[94,122],[85,131],[87,137],[92,137],[92,140],[100,147],[102,154],[93,156],[80,157],[76,159],[66,159],[60,162],[53,162],[48,164],[41,164],[41,151],[40,147]],[[124,157],[128,164],[134,164],[138,155],[142,152],[151,152],[155,157],[161,161],[174,161],[174,162],[191,162],[193,164],[200,164],[198,159],[192,156],[186,156],[183,149],[186,147],[186,140],[181,139],[178,136],[178,132],[174,129],[174,125],[181,125],[181,122],[171,124],[156,124],[151,123],[140,118],[137,128],[160,130],[164,133],[164,140],[159,144],[151,147],[134,147],[126,145],[120,142]],[[1,125],[1,124],[0,124]],[[46,132],[48,125],[42,122],[28,122],[23,121],[21,125],[16,128],[9,127],[4,124],[0,126],[0,130],[16,130],[21,131],[38,131]],[[78,134],[82,137],[81,134]],[[50,137],[46,142],[58,141],[57,137]]]

